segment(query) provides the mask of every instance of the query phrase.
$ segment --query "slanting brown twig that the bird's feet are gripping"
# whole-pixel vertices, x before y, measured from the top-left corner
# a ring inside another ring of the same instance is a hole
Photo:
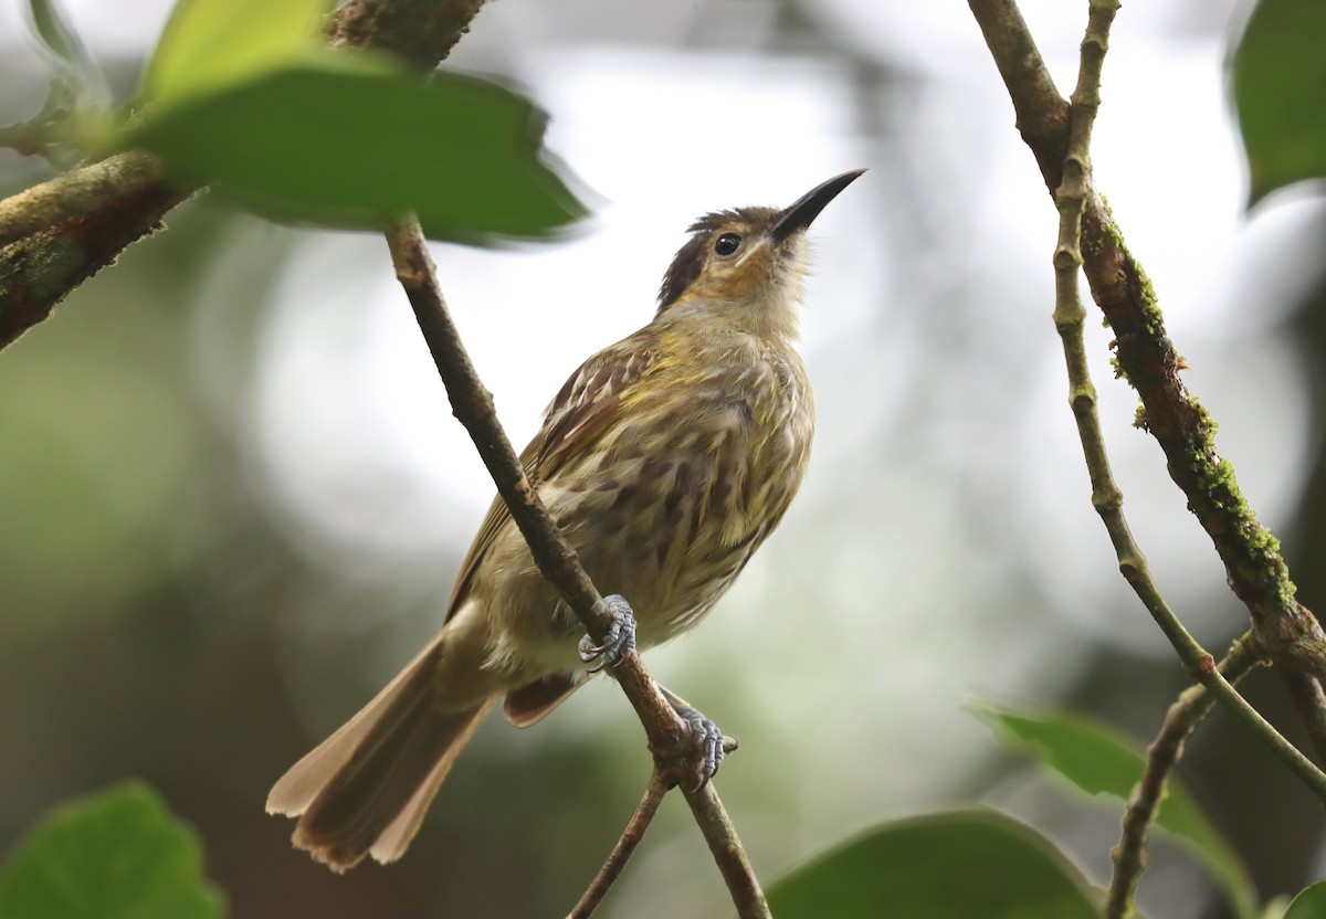
[[[475,442],[484,465],[497,485],[497,492],[511,511],[512,520],[529,544],[538,570],[562,594],[586,631],[602,642],[610,625],[603,599],[581,566],[579,558],[562,538],[557,522],[544,508],[538,493],[530,487],[520,459],[497,420],[492,395],[475,373],[460,334],[451,321],[419,223],[414,219],[398,223],[387,229],[386,237],[396,277],[410,298],[419,329],[447,387],[452,412]],[[659,751],[693,749],[688,728],[663,698],[658,683],[644,670],[639,654],[627,652],[609,672],[622,686],[640,724],[644,725],[650,749],[656,755]],[[711,785],[712,782],[704,786],[707,792],[704,789],[687,792],[687,804],[691,805],[696,822],[709,841],[709,849],[728,883],[737,915],[743,919],[768,916],[769,908],[758,881]]]

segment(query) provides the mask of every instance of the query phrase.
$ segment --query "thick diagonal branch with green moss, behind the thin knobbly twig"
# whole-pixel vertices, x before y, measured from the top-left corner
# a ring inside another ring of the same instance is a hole
[[[968,0],[1017,111],[1017,127],[1052,194],[1063,180],[1069,105],[1054,89],[1013,0]],[[1083,269],[1115,333],[1119,373],[1142,398],[1140,423],[1159,442],[1170,476],[1211,536],[1257,641],[1278,667],[1326,678],[1326,634],[1294,599],[1280,544],[1244,500],[1233,467],[1215,450],[1215,422],[1179,371],[1155,292],[1101,196],[1087,186],[1082,212]]]

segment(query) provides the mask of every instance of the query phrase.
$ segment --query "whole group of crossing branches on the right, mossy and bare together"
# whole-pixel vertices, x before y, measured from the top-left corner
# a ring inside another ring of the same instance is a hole
[[[1309,736],[1319,752],[1326,751],[1321,686],[1326,676],[1326,635],[1315,617],[1294,599],[1278,542],[1244,501],[1232,467],[1216,454],[1215,424],[1177,375],[1183,359],[1164,333],[1150,281],[1091,186],[1091,127],[1119,1],[1089,0],[1071,102],[1054,88],[1016,0],[968,3],[1013,99],[1022,139],[1036,155],[1059,214],[1053,256],[1053,317],[1063,342],[1069,402],[1091,479],[1091,503],[1114,544],[1120,574],[1200,683],[1185,691],[1167,713],[1123,818],[1123,835],[1113,853],[1115,870],[1105,916],[1124,919],[1134,912],[1136,885],[1147,865],[1150,827],[1168,777],[1184,743],[1216,702],[1227,705],[1326,802],[1326,774],[1233,688],[1236,680],[1269,656],[1281,668]],[[1115,330],[1118,366],[1142,398],[1146,428],[1164,450],[1175,484],[1188,496],[1189,508],[1225,562],[1231,587],[1248,606],[1253,629],[1233,643],[1219,666],[1164,601],[1123,516],[1123,496],[1110,472],[1087,369],[1079,271],[1086,273],[1093,297]]]

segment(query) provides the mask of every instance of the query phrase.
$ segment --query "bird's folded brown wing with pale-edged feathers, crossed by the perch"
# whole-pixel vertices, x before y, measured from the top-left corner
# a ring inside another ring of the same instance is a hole
[[[525,475],[536,488],[557,475],[569,456],[579,455],[617,416],[622,394],[658,363],[648,347],[650,336],[640,330],[605,347],[570,375],[544,412],[544,424],[520,455]],[[460,564],[456,586],[447,603],[447,618],[469,593],[475,572],[497,533],[511,522],[507,503],[499,495],[488,508],[465,560]]]

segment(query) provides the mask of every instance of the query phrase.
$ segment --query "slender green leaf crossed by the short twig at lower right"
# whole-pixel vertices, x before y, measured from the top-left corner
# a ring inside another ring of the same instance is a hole
[[[989,704],[975,705],[973,711],[1008,747],[1029,753],[1087,794],[1127,801],[1146,768],[1136,741],[1082,715],[1014,712]],[[1257,914],[1256,888],[1242,861],[1177,776],[1170,777],[1156,824],[1207,866],[1238,916],[1250,919]]]

